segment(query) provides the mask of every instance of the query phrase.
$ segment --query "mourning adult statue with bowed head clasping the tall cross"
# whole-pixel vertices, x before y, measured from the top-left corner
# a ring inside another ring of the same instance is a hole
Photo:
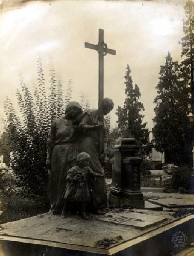
[[[114,108],[112,99],[103,99],[104,115],[110,113]],[[99,128],[104,127],[104,154],[99,157]],[[107,189],[104,177],[104,169],[101,162],[107,154],[107,126],[99,122],[98,109],[85,110],[84,115],[79,123],[79,130],[83,132],[83,137],[80,143],[81,151],[87,152],[90,157],[90,168],[101,177],[88,177],[88,187],[93,200],[94,210],[98,214],[105,213],[107,207]]]

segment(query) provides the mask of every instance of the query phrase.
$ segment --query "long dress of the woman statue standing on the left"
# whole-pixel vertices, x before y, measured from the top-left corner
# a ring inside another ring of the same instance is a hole
[[[50,211],[62,210],[62,195],[66,186],[68,170],[76,163],[78,145],[76,126],[64,117],[55,119],[48,134],[47,146],[51,147],[51,169],[48,171],[48,195]]]

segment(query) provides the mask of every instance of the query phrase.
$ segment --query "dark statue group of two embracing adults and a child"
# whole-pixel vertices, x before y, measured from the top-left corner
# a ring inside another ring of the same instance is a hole
[[[103,112],[114,108],[111,99],[104,98]],[[99,130],[104,128],[104,153],[99,157]],[[107,189],[101,165],[107,151],[107,126],[99,122],[98,109],[82,111],[78,102],[69,102],[65,115],[53,120],[47,140],[48,195],[52,214],[67,215],[72,202],[78,202],[81,216],[86,204],[93,211],[104,214]]]

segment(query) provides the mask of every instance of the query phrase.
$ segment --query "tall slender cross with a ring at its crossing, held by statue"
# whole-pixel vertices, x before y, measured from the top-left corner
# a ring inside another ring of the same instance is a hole
[[[107,44],[104,43],[104,30],[99,29],[98,44],[85,43],[86,48],[96,50],[99,54],[99,93],[98,93],[98,109],[99,109],[99,121],[104,121],[103,115],[103,98],[104,98],[104,56],[108,54],[116,55],[116,51],[107,48]],[[100,129],[100,155],[104,151],[104,131]]]

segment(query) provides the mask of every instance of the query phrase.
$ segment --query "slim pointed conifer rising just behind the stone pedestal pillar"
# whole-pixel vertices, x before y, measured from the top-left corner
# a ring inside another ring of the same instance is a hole
[[[148,142],[149,131],[146,129],[146,123],[143,123],[144,116],[141,114],[141,111],[144,111],[144,107],[143,103],[140,102],[140,89],[137,84],[133,86],[131,70],[128,64],[124,79],[127,97],[123,108],[120,106],[117,108],[118,131],[122,137],[131,137],[132,135],[138,145],[143,146]]]

